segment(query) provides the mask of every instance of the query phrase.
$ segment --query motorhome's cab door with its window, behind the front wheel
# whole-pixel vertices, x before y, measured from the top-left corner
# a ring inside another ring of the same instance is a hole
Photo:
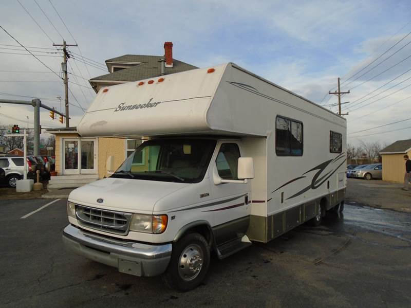
[[[238,180],[238,158],[241,156],[239,141],[224,141],[217,144],[212,167],[217,169],[222,179]],[[217,204],[211,209],[214,212],[214,236],[218,244],[241,238],[246,234],[250,222],[250,183],[213,183],[211,169],[211,196]]]

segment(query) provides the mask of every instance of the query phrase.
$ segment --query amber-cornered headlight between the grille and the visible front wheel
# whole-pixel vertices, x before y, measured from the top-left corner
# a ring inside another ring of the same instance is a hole
[[[167,215],[133,214],[130,231],[160,234],[167,228]]]

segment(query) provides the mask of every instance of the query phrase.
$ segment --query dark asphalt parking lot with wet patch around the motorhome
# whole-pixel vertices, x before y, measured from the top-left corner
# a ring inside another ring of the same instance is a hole
[[[202,285],[178,293],[158,277],[120,274],[66,251],[61,241],[66,200],[31,213],[49,202],[0,203],[3,307],[405,307],[411,302],[409,213],[346,204],[344,215],[329,214],[320,227],[303,225],[268,244],[214,259]]]

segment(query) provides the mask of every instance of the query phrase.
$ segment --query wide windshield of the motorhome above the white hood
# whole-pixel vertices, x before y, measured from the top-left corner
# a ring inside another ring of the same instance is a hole
[[[216,145],[208,139],[156,139],[143,142],[111,177],[198,183]]]

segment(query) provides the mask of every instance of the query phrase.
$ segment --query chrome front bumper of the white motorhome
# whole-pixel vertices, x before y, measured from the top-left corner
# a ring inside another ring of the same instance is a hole
[[[172,244],[149,245],[106,238],[68,225],[63,242],[78,255],[118,268],[121,273],[156,276],[169,265]]]

